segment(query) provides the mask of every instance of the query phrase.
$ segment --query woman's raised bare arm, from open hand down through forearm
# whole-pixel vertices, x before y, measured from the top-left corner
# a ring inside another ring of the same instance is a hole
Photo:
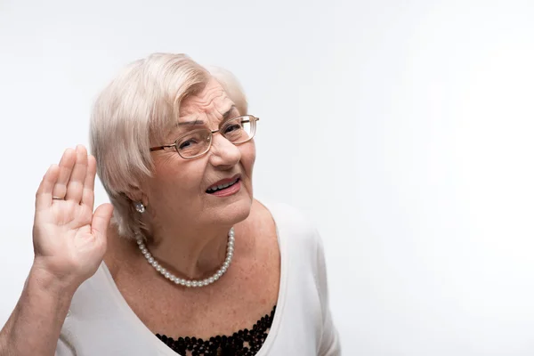
[[[95,174],[95,159],[83,146],[66,150],[44,174],[36,193],[35,259],[0,331],[0,356],[52,356],[72,296],[101,264],[113,208],[104,204],[93,214]]]

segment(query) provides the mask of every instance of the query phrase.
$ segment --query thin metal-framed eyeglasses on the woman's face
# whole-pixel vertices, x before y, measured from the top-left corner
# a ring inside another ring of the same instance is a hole
[[[182,158],[197,158],[204,155],[211,148],[213,136],[216,133],[222,134],[226,140],[234,145],[252,140],[255,135],[256,122],[259,119],[259,117],[252,115],[234,117],[224,121],[218,130],[210,130],[208,128],[192,130],[187,134],[182,134],[173,144],[152,147],[150,151],[165,150],[173,147]]]

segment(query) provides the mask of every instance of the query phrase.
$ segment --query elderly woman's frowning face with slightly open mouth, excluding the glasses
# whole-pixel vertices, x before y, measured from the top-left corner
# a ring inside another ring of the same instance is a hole
[[[201,93],[182,101],[181,125],[160,143],[170,144],[198,128],[216,130],[222,121],[241,114],[223,87],[212,79]],[[253,199],[253,140],[236,146],[221,134],[214,134],[211,149],[198,158],[184,159],[174,149],[152,155],[155,174],[143,187],[152,229],[166,231],[191,223],[233,225],[247,218]],[[235,178],[238,182],[225,190],[208,190],[217,182],[233,182]]]

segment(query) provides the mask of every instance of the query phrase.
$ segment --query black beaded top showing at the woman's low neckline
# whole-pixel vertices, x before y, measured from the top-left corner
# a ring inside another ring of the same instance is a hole
[[[209,340],[189,336],[174,340],[165,335],[156,336],[182,356],[254,356],[267,338],[275,311],[276,305],[272,308],[271,315],[265,314],[251,329],[239,330],[232,336],[214,336]]]

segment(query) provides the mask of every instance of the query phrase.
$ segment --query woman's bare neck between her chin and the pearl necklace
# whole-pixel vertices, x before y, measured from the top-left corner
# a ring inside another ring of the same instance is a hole
[[[168,271],[185,279],[202,279],[217,271],[226,257],[231,226],[156,230],[146,244],[150,254]]]

